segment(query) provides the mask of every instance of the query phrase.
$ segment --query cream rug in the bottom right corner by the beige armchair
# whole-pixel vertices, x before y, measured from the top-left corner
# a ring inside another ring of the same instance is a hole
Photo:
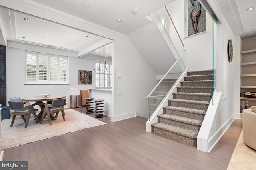
[[[228,165],[228,170],[256,170],[256,150],[244,143],[243,131]]]

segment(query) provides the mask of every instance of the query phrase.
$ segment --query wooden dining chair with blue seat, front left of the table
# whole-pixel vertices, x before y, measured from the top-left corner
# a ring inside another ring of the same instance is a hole
[[[40,122],[37,115],[36,115],[36,112],[33,108],[33,106],[35,104],[24,106],[24,103],[22,101],[8,101],[8,103],[9,103],[10,109],[13,110],[13,112],[12,112],[12,122],[11,122],[10,127],[12,127],[12,125],[14,123],[14,120],[16,118],[16,115],[20,115],[20,117],[26,123],[25,128],[28,127],[28,122],[29,122],[31,113],[34,115],[36,121]]]

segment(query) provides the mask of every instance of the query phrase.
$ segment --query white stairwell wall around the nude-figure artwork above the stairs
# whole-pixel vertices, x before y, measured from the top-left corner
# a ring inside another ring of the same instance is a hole
[[[187,36],[187,0],[176,0],[167,6],[172,20],[187,49],[187,67],[190,71],[212,68],[212,19],[206,12],[206,32]]]

